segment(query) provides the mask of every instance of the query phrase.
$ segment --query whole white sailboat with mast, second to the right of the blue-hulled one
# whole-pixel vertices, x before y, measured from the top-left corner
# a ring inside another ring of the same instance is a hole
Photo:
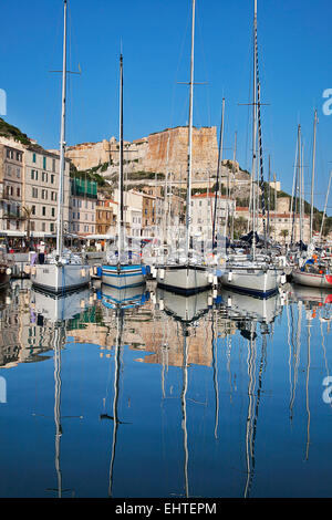
[[[257,256],[257,132],[259,131],[259,155],[260,155],[260,185],[262,186],[262,147],[260,125],[260,83],[258,74],[258,45],[257,45],[257,0],[255,0],[253,15],[253,102],[252,102],[252,169],[251,169],[251,200],[252,200],[252,239],[251,254],[246,258],[228,258],[226,271],[221,275],[224,285],[243,291],[245,293],[266,298],[278,291],[281,283],[282,272],[273,264],[272,259],[267,256]],[[259,123],[259,126],[258,126]],[[263,200],[263,196],[262,196]],[[266,240],[267,245],[267,240]],[[284,277],[286,281],[286,277]]]

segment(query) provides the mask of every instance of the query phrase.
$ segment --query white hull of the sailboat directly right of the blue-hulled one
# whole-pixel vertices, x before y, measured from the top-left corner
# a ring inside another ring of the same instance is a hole
[[[157,269],[157,284],[178,293],[194,293],[211,287],[210,274],[199,266],[166,266]]]

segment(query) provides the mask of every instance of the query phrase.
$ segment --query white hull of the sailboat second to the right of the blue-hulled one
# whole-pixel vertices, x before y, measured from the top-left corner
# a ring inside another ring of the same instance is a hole
[[[222,274],[221,283],[246,294],[266,298],[278,291],[281,274],[274,269],[234,268]]]

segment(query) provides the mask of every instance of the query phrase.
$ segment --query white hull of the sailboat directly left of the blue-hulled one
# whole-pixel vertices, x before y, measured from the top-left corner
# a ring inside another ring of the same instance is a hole
[[[44,263],[31,269],[32,285],[59,294],[90,283],[90,266]]]

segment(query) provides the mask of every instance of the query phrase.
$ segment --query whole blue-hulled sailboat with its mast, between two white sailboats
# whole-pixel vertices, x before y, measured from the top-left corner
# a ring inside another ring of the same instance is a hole
[[[108,249],[106,262],[102,266],[102,283],[117,289],[137,287],[145,283],[146,267],[142,263],[139,248],[135,251],[132,240],[126,237],[124,221],[123,179],[123,55],[120,55],[120,157],[116,249]]]

